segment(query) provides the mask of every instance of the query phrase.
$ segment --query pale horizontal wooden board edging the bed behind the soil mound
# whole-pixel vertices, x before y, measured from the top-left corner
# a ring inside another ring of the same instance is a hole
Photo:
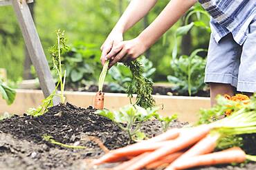
[[[94,92],[65,92],[66,101],[79,107],[93,105]],[[154,96],[156,105],[163,105],[159,113],[163,116],[178,114],[179,119],[194,123],[198,120],[198,112],[201,108],[210,108],[210,98],[184,97],[184,96]],[[17,89],[15,103],[8,106],[3,99],[0,99],[0,113],[23,114],[30,107],[37,107],[44,99],[41,90]],[[129,104],[126,94],[105,94],[105,107],[107,109],[119,109]]]

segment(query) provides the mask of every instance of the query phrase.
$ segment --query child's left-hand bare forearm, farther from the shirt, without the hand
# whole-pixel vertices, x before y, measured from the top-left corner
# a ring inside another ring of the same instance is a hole
[[[113,30],[125,33],[140,21],[156,4],[157,0],[132,0]]]

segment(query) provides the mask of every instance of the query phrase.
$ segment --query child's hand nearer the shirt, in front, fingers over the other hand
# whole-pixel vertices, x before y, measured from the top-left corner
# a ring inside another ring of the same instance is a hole
[[[145,43],[136,37],[129,41],[122,41],[107,54],[105,60],[110,60],[109,68],[119,61],[133,61],[147,50]]]

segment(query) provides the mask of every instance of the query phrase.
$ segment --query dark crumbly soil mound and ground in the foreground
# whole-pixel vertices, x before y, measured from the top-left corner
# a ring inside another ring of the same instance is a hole
[[[91,167],[89,162],[98,158],[107,149],[129,145],[129,138],[111,120],[94,113],[89,107],[82,109],[71,104],[51,107],[39,117],[12,116],[0,122],[0,169],[104,169]],[[183,127],[186,123],[175,120],[170,128]],[[150,120],[141,131],[148,137],[162,132],[161,123]],[[52,136],[66,145],[84,146],[85,149],[69,149],[44,140]],[[102,145],[103,144],[103,145]],[[201,169],[256,169],[255,164],[246,167],[205,167]]]

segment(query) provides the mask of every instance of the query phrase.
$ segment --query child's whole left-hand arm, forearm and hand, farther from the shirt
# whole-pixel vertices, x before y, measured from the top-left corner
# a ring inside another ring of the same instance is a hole
[[[129,6],[120,17],[118,23],[104,41],[103,45],[100,47],[102,50],[101,60],[107,55],[112,47],[120,43],[122,39],[122,34],[125,33],[129,28],[131,28],[135,23],[140,21],[149,10],[151,10],[156,4],[157,0],[132,0]],[[104,60],[102,60],[104,64]]]

